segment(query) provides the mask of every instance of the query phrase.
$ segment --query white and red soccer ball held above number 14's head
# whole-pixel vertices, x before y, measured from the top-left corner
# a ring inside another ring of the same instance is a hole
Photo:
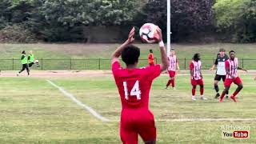
[[[139,35],[142,38],[142,42],[154,43],[158,40],[157,34],[158,26],[153,23],[145,23],[139,29]]]

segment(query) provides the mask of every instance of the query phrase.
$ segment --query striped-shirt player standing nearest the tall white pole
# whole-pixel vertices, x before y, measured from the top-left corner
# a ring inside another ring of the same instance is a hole
[[[174,82],[174,78],[175,78],[175,74],[176,74],[176,68],[177,70],[179,70],[179,66],[178,66],[178,58],[175,55],[175,51],[174,49],[170,50],[170,56],[168,57],[169,60],[169,67],[167,69],[169,76],[170,76],[170,80],[167,82],[166,84],[166,89],[168,88],[168,86],[171,86],[172,88],[175,90],[175,82]]]

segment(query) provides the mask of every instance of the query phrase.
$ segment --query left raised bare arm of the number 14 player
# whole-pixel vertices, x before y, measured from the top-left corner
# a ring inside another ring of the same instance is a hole
[[[118,47],[117,50],[114,51],[114,53],[112,54],[111,56],[111,59],[112,59],[112,62],[114,59],[117,59],[120,57],[121,53],[122,53],[122,50],[130,45],[130,43],[134,42],[134,34],[135,34],[135,28],[133,27],[131,30],[130,30],[130,34],[128,36],[128,39],[126,40],[126,42],[124,42],[121,46]]]

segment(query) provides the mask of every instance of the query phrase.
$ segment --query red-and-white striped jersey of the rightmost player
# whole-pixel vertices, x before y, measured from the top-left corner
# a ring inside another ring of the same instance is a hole
[[[235,78],[238,77],[238,58],[234,58],[234,61],[231,59],[226,60],[225,67],[230,69],[230,74]],[[229,74],[226,74],[226,78],[231,78]]]

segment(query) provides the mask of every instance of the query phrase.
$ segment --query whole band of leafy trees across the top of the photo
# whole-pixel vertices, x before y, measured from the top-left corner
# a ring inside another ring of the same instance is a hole
[[[145,22],[153,22],[162,28],[166,36],[166,0],[145,2],[0,0],[0,30],[5,27],[4,31],[10,30],[14,25],[22,26],[22,30],[34,34],[33,39],[83,42],[84,26],[119,26],[123,31],[128,31],[131,26],[139,27]],[[171,31],[175,42],[200,37],[205,41],[206,34],[214,34],[216,30],[214,22],[219,35],[224,34],[225,38],[222,39],[227,42],[256,42],[255,0],[171,0],[170,3]]]

